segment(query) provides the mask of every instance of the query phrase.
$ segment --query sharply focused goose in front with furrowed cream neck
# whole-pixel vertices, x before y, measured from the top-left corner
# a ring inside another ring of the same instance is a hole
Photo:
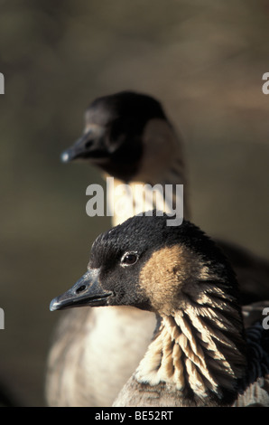
[[[190,222],[171,227],[153,213],[101,234],[88,271],[51,301],[52,311],[82,306],[159,318],[114,406],[269,406],[269,330],[245,331],[233,269]]]

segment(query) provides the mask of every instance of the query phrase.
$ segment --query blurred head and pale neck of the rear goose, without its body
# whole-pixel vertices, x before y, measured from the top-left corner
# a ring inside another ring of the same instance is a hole
[[[116,211],[112,216],[113,225],[135,214],[134,197],[136,202],[140,201],[138,212],[148,210],[147,196],[143,199],[135,192],[137,184],[158,184],[162,188],[172,184],[174,197],[175,184],[186,186],[181,136],[173,129],[158,100],[142,93],[122,91],[95,99],[86,110],[85,120],[83,136],[62,153],[61,159],[63,162],[87,161],[100,168],[105,178],[114,177],[114,185],[107,194],[110,210],[116,197],[122,196],[117,194],[120,192],[117,187],[129,185],[131,192],[124,194],[122,204],[125,213]],[[160,196],[163,198],[162,192]],[[187,194],[183,201],[184,216],[189,217]],[[164,210],[167,208],[171,210],[169,205],[162,206]]]

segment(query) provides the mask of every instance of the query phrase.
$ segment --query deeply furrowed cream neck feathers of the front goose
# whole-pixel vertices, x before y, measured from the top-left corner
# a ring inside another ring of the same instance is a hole
[[[209,394],[217,396],[216,405],[222,405],[223,391],[236,396],[237,380],[246,373],[245,341],[242,326],[237,325],[241,322],[237,309],[229,304],[227,311],[219,314],[224,299],[210,294],[208,302],[211,307],[186,303],[174,315],[163,315],[159,334],[135,372],[137,382],[165,382],[177,392],[182,406],[188,393],[205,403]],[[190,401],[186,400],[186,405]]]

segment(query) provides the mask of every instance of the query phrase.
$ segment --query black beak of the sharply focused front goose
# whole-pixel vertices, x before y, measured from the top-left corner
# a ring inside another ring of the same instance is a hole
[[[89,269],[72,288],[59,297],[52,299],[50,310],[84,306],[107,306],[108,297],[112,294],[112,292],[101,287],[99,269]]]

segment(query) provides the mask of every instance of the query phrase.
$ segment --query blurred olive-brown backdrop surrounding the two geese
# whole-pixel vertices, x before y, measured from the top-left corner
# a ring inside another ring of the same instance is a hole
[[[89,218],[88,165],[63,165],[97,96],[161,99],[185,138],[193,221],[268,258],[268,0],[0,1],[0,381],[42,406],[52,297],[110,225]]]

